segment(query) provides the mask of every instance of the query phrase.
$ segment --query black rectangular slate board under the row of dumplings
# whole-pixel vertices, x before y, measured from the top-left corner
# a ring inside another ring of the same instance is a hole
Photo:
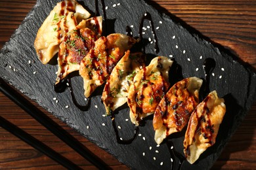
[[[0,76],[12,84],[20,92],[25,93],[39,105],[53,113],[54,116],[77,129],[87,139],[93,141],[107,152],[133,169],[170,169],[171,156],[164,142],[157,146],[154,141],[152,117],[146,118],[144,125],[140,126],[139,136],[132,144],[117,144],[116,135],[110,118],[102,116],[104,107],[100,102],[98,89],[91,99],[91,108],[83,112],[72,102],[69,90],[63,93],[54,92],[53,84],[56,78],[57,65],[43,65],[37,59],[33,48],[33,41],[37,30],[58,1],[39,0],[28,14],[22,25],[12,35],[11,40],[5,44],[0,54]],[[85,5],[92,15],[95,13],[95,1],[80,2]],[[101,7],[101,3],[99,7]],[[216,67],[210,76],[209,89],[217,90],[220,97],[224,97],[226,115],[221,124],[217,142],[200,156],[194,165],[184,162],[182,169],[209,169],[217,160],[224,145],[246,112],[255,101],[256,74],[247,67],[235,61],[231,56],[220,52],[211,43],[199,39],[190,34],[181,25],[175,24],[169,16],[158,13],[157,10],[147,5],[144,1],[104,1],[106,9],[106,25],[108,33],[124,33],[125,27],[131,27],[133,35],[139,36],[140,18],[145,12],[152,15],[160,52],[154,52],[154,43],[146,44],[148,56],[169,56],[175,59],[176,65],[180,65],[182,76],[198,76],[204,78],[203,61],[205,58],[213,58]],[[103,10],[100,9],[100,14]],[[153,40],[152,29],[145,20],[146,30],[143,35],[144,42],[148,38]],[[30,63],[31,61],[31,63]],[[175,82],[174,75],[170,73],[170,80]],[[83,97],[83,82],[79,76],[72,77],[76,98],[79,103],[85,103]],[[56,99],[54,99],[56,97]],[[57,101],[57,102],[56,102]],[[66,108],[68,106],[68,108]],[[120,136],[127,139],[133,136],[134,126],[129,119],[129,109],[123,107],[116,116]],[[173,141],[175,150],[183,154],[183,134],[176,133],[168,137]],[[144,154],[143,154],[144,153]],[[177,163],[177,162],[176,162]],[[177,165],[176,165],[177,167]]]

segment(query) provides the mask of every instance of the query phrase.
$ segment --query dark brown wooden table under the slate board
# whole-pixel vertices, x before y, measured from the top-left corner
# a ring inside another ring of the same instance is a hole
[[[35,0],[0,0],[0,48],[35,5]],[[154,0],[148,1],[161,12],[173,14],[192,33],[200,34],[222,50],[235,54],[256,69],[256,1],[255,0]],[[34,105],[40,108],[36,103]],[[41,109],[41,108],[40,108]],[[43,109],[41,109],[43,110]],[[128,169],[113,156],[95,146],[43,110],[49,118],[66,129],[75,139],[104,160],[112,169]],[[72,148],[41,126],[24,110],[0,93],[0,115],[47,144],[83,169],[96,169]],[[248,112],[213,169],[256,169],[256,103]],[[62,169],[51,158],[0,128],[0,168]]]

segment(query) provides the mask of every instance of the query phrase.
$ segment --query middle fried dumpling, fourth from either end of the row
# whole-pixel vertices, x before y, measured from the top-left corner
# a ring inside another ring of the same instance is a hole
[[[127,102],[134,76],[145,67],[144,60],[144,55],[141,53],[130,54],[127,50],[125,56],[114,67],[102,93],[107,115]]]

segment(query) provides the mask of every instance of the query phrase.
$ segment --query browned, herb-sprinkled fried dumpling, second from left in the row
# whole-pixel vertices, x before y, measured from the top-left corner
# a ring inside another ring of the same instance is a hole
[[[81,21],[75,29],[66,33],[58,52],[58,74],[56,84],[69,73],[79,70],[81,60],[95,46],[102,34],[102,17]]]

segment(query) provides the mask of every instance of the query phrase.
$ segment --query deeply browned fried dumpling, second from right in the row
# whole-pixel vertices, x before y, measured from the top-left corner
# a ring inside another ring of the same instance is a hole
[[[185,78],[174,84],[161,99],[153,119],[156,143],[160,144],[165,137],[188,124],[190,114],[198,105],[202,82],[196,77]]]

